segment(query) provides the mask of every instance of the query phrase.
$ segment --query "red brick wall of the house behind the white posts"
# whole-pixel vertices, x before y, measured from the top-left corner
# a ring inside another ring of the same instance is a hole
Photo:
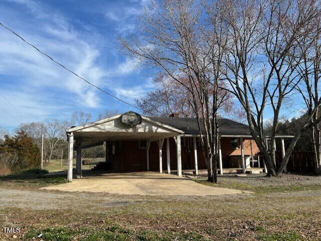
[[[166,141],[163,144],[163,171],[167,170],[167,151]],[[250,140],[244,139],[244,154],[251,155]],[[223,167],[228,167],[230,162],[230,156],[241,155],[240,148],[231,148],[230,138],[221,138],[222,147],[222,159]],[[256,143],[252,140],[253,154],[259,152]],[[204,161],[203,151],[201,146],[197,146],[198,154],[198,168],[206,169],[206,163]],[[177,154],[176,154],[176,143],[173,138],[170,138],[170,155],[171,155],[171,170],[177,169]],[[139,141],[115,141],[115,154],[111,155],[113,161],[114,171],[145,171],[147,170],[146,161],[146,149],[139,149]],[[193,138],[185,137],[185,145],[182,146],[182,168],[194,169],[194,148]],[[159,152],[156,141],[150,143],[149,147],[149,170],[159,170]]]

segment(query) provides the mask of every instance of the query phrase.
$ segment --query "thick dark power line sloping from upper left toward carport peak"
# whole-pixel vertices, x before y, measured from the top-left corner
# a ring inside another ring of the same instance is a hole
[[[90,83],[90,82],[89,82],[88,80],[86,80],[85,78],[79,76],[78,74],[76,74],[76,73],[73,72],[72,70],[70,70],[70,69],[68,69],[67,67],[65,67],[64,65],[60,64],[58,61],[54,60],[52,57],[50,57],[50,56],[47,55],[46,53],[44,53],[44,52],[42,52],[41,50],[39,50],[39,49],[38,49],[36,46],[34,46],[33,44],[31,44],[31,43],[29,43],[28,41],[24,40],[23,37],[21,37],[20,35],[18,35],[17,33],[15,33],[13,30],[9,29],[7,26],[5,26],[4,24],[2,24],[1,22],[0,22],[0,25],[1,25],[2,27],[4,27],[5,29],[7,29],[8,31],[10,31],[11,33],[13,33],[14,35],[16,35],[18,38],[20,38],[20,39],[21,39],[22,41],[24,41],[26,44],[28,44],[28,45],[30,45],[31,47],[33,47],[34,49],[36,49],[39,53],[43,54],[44,56],[46,56],[47,58],[49,58],[51,61],[53,61],[54,63],[56,63],[57,65],[61,66],[61,67],[64,68],[65,70],[67,70],[68,72],[72,73],[73,75],[75,75],[75,76],[77,76],[78,78],[82,79],[83,81],[87,82],[89,85],[91,85],[91,86],[95,87],[96,89],[104,92],[105,94],[107,94],[107,95],[115,98],[116,100],[121,101],[122,103],[124,103],[124,104],[126,104],[126,105],[129,105],[129,106],[131,106],[131,107],[134,107],[134,108],[140,110],[137,106],[134,106],[134,105],[132,105],[132,104],[130,104],[130,103],[128,103],[128,102],[126,102],[126,101],[124,101],[124,100],[116,97],[116,96],[114,96],[113,94],[110,94],[109,92],[101,89],[100,87],[98,87],[98,86]]]

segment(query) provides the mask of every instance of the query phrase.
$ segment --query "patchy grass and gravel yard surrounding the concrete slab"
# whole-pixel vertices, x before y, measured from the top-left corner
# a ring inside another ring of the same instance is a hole
[[[317,241],[321,236],[320,177],[219,177],[217,186],[253,191],[223,196],[39,190],[64,178],[0,178],[0,224],[22,230],[0,233],[0,239]],[[213,185],[204,177],[196,181]]]

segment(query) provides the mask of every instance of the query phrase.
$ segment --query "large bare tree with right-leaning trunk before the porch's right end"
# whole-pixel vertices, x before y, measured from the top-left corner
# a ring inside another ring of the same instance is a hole
[[[222,1],[223,2],[223,1]],[[264,156],[269,175],[280,175],[300,135],[317,124],[309,116],[291,140],[280,166],[275,164],[275,137],[281,108],[300,83],[295,72],[302,61],[298,39],[314,31],[318,15],[314,1],[224,1],[229,51],[226,78],[243,106],[251,134]],[[319,102],[317,104],[319,106]],[[269,133],[263,131],[264,112],[273,115]],[[315,113],[313,109],[311,114]]]

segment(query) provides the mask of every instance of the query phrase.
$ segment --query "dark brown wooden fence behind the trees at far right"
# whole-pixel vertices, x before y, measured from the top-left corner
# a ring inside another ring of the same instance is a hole
[[[282,161],[282,153],[277,151],[275,156],[276,166]],[[305,151],[294,151],[291,153],[289,161],[286,165],[288,172],[313,172],[313,153]]]

